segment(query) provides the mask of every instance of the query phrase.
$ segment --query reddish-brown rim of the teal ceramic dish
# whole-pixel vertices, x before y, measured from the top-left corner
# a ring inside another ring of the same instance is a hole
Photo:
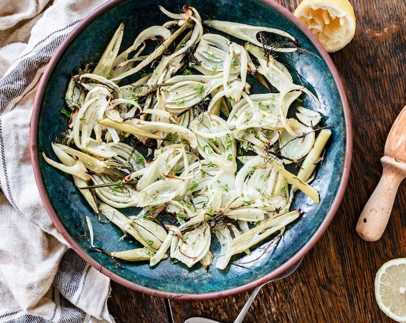
[[[43,183],[43,179],[41,176],[41,170],[40,170],[40,165],[39,165],[39,157],[38,157],[38,151],[37,151],[37,129],[38,129],[38,119],[39,119],[39,111],[41,107],[41,102],[43,98],[43,94],[45,91],[46,84],[54,70],[54,67],[56,63],[58,62],[60,56],[63,54],[63,52],[67,49],[71,41],[80,33],[89,23],[91,23],[97,16],[101,15],[108,9],[114,7],[114,5],[118,4],[122,0],[109,0],[106,3],[102,4],[100,7],[97,7],[94,11],[92,11],[88,16],[86,16],[79,24],[76,26],[71,33],[63,40],[63,42],[60,44],[60,46],[57,48],[56,52],[52,56],[50,62],[48,63],[48,66],[45,69],[45,72],[41,78],[41,81],[39,83],[37,93],[35,95],[35,100],[34,100],[34,105],[32,109],[32,117],[30,121],[30,156],[31,156],[31,162],[32,162],[32,167],[34,171],[34,176],[35,176],[35,181],[37,183],[37,187],[39,189],[39,193],[42,199],[42,202],[45,206],[45,209],[48,212],[48,215],[51,217],[52,222],[54,223],[56,229],[58,232],[65,238],[67,243],[72,247],[72,249],[86,262],[88,262],[92,267],[100,271],[100,273],[103,273],[110,279],[114,280],[115,282],[127,287],[131,288],[133,290],[136,290],[141,293],[147,293],[149,295],[153,296],[158,296],[158,297],[164,297],[164,298],[176,298],[176,299],[184,299],[184,300],[203,300],[203,299],[215,299],[219,297],[227,297],[231,296],[234,294],[242,293],[247,290],[250,290],[252,288],[255,288],[261,284],[264,284],[266,282],[269,282],[270,280],[274,279],[275,277],[278,277],[279,275],[283,274],[287,269],[292,267],[294,264],[296,264],[300,259],[306,255],[309,250],[315,245],[315,243],[320,239],[324,231],[328,228],[328,225],[330,222],[333,220],[333,217],[335,213],[338,210],[338,207],[341,203],[341,200],[343,199],[346,186],[348,183],[348,178],[350,175],[350,168],[351,168],[351,160],[352,160],[352,137],[353,137],[353,132],[352,132],[352,121],[351,121],[351,115],[350,115],[350,108],[348,105],[347,101],[347,96],[344,91],[343,84],[341,82],[341,78],[339,76],[339,73],[331,60],[330,56],[326,52],[326,50],[323,48],[323,46],[320,44],[319,41],[317,41],[316,37],[311,33],[311,31],[302,23],[300,20],[293,15],[290,11],[288,11],[285,7],[281,6],[280,4],[274,2],[273,0],[259,0],[260,2],[268,5],[275,11],[277,11],[279,14],[283,15],[287,20],[292,22],[304,35],[306,35],[310,42],[315,46],[315,48],[318,50],[318,52],[321,54],[322,58],[326,62],[328,68],[330,69],[331,74],[333,75],[333,79],[335,81],[335,84],[337,86],[339,96],[341,99],[341,103],[343,104],[343,113],[344,113],[344,120],[346,124],[346,153],[345,153],[345,161],[344,161],[344,168],[343,168],[343,175],[341,178],[341,182],[339,184],[339,188],[337,191],[337,194],[335,198],[333,199],[333,203],[330,206],[330,210],[327,212],[326,217],[322,221],[320,227],[317,229],[317,231],[311,236],[309,241],[292,257],[290,258],[287,262],[276,268],[274,271],[271,271],[270,273],[264,275],[261,278],[258,278],[257,280],[254,280],[253,282],[250,282],[248,284],[244,284],[242,286],[238,286],[235,288],[230,288],[227,290],[222,290],[218,292],[211,292],[211,293],[202,293],[202,294],[181,294],[181,293],[173,293],[173,292],[167,292],[167,291],[162,291],[162,290],[156,290],[153,288],[149,288],[140,284],[136,284],[134,282],[131,282],[130,280],[127,280],[109,269],[103,267],[99,262],[97,262],[95,259],[93,259],[90,255],[86,254],[86,252],[76,243],[76,241],[73,240],[73,238],[70,236],[70,234],[67,232],[65,229],[63,223],[60,221],[58,218],[58,215],[56,215],[56,212],[54,208],[52,207],[52,204],[50,202],[50,199],[48,197],[48,194],[46,193],[45,190],[45,185]]]

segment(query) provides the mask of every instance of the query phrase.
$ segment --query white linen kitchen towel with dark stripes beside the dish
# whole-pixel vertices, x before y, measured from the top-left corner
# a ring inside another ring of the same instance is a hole
[[[56,48],[104,1],[0,0],[0,323],[114,322],[110,280],[66,245],[32,173],[29,126]]]

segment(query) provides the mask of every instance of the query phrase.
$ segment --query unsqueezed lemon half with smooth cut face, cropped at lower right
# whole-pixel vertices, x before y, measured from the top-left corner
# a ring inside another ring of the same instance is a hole
[[[406,322],[406,258],[385,262],[375,276],[380,309],[396,322]]]

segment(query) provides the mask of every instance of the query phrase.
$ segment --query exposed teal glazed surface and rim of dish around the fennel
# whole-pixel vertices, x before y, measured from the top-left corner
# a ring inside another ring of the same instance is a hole
[[[116,268],[108,256],[91,251],[85,221],[85,216],[92,214],[91,209],[69,176],[45,163],[40,152],[56,159],[51,141],[66,128],[66,118],[59,110],[64,106],[69,78],[94,53],[103,52],[119,23],[125,23],[122,48],[127,48],[141,30],[168,20],[158,10],[158,5],[178,12],[183,4],[178,0],[142,3],[114,0],[86,17],[58,48],[41,80],[32,115],[31,156],[45,207],[58,230],[84,260],[113,280],[141,292],[162,297],[207,299],[240,293],[267,282],[309,251],[326,230],[343,197],[350,170],[352,130],[343,87],[330,57],[309,30],[286,9],[270,0],[189,0],[186,4],[196,7],[203,18],[280,28],[296,37],[300,47],[306,50],[307,53],[281,54],[279,59],[293,67],[300,79],[307,82],[307,87],[317,94],[321,107],[313,108],[324,115],[325,124],[333,125],[324,161],[312,184],[320,192],[321,203],[314,204],[298,193],[293,207],[300,208],[303,216],[286,230],[276,248],[250,262],[263,253],[259,246],[253,249],[251,256],[233,258],[232,261],[240,265],[229,265],[224,271],[212,266],[206,272],[199,265],[188,269],[179,263],[171,265],[168,260],[155,268],[145,262],[123,262],[123,267]],[[131,210],[127,210],[129,213]],[[110,251],[134,248],[132,243],[118,242],[122,233],[114,225],[92,222],[95,245]],[[212,243],[215,255],[219,247],[217,241]]]

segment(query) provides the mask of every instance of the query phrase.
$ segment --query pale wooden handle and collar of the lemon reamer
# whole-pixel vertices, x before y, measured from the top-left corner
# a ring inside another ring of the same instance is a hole
[[[356,232],[367,241],[377,241],[385,231],[397,189],[406,177],[406,163],[389,156],[381,158],[382,177],[365,205]]]

